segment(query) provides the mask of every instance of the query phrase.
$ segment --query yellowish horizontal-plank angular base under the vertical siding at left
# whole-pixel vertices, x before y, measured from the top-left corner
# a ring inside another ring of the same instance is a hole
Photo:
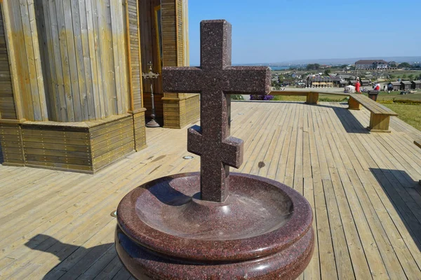
[[[79,123],[81,126],[0,123],[4,162],[92,174],[135,150],[135,130],[139,144],[145,140],[145,121],[135,127],[132,115],[96,122]]]

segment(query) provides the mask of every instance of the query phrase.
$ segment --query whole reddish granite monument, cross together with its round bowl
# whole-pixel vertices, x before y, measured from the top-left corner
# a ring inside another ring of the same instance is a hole
[[[231,25],[201,23],[201,67],[163,69],[165,92],[201,93],[188,151],[201,172],[136,188],[117,210],[116,250],[138,279],[295,279],[314,249],[312,209],[282,183],[229,174],[243,162],[230,137],[232,93],[269,91],[267,67],[231,66]]]

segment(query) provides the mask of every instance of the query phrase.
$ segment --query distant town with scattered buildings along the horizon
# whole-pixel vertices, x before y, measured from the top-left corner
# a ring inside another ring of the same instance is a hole
[[[360,59],[353,64],[302,64],[272,67],[272,86],[281,87],[347,87],[359,79],[363,90],[375,83],[382,89],[421,90],[420,62],[387,62],[384,59]]]

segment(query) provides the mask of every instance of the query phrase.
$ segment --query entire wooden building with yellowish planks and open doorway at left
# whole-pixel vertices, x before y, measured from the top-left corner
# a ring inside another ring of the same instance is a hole
[[[146,146],[153,62],[189,64],[187,0],[0,1],[4,165],[94,173]],[[157,116],[180,128],[199,95],[162,92]]]

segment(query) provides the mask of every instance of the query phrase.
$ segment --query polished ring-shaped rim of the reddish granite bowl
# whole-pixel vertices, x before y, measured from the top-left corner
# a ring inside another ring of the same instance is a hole
[[[200,240],[187,239],[168,235],[151,228],[137,217],[135,203],[140,195],[161,181],[180,177],[200,176],[199,172],[167,176],[135,188],[121,200],[117,221],[121,230],[133,241],[153,251],[171,255],[176,258],[206,261],[240,261],[271,255],[287,248],[302,238],[312,226],[312,209],[300,193],[283,183],[253,176],[249,174],[232,173],[232,177],[243,177],[246,180],[257,180],[280,188],[293,202],[293,214],[290,220],[281,228],[263,235],[234,240]]]

